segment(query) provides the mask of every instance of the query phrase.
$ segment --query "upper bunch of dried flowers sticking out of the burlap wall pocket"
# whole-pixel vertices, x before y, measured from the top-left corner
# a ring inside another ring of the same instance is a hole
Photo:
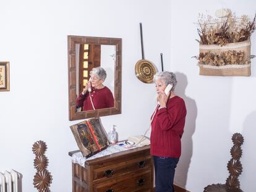
[[[251,21],[248,15],[236,17],[230,12],[226,18],[213,19],[211,15],[199,14],[197,32],[200,44],[217,44],[223,46],[227,43],[237,43],[250,39],[255,31],[256,14]]]

